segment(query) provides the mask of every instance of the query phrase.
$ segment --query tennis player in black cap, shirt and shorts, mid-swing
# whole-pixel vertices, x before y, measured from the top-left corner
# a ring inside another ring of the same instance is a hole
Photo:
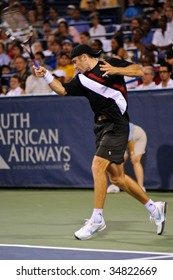
[[[124,173],[124,152],[128,143],[129,117],[124,75],[139,77],[143,71],[137,64],[110,58],[99,61],[101,51],[81,44],[71,52],[72,63],[78,72],[68,83],[61,84],[44,67],[33,66],[37,77],[43,77],[58,95],[85,96],[95,114],[94,132],[96,153],[92,162],[94,179],[94,209],[83,227],[74,233],[80,240],[90,239],[106,228],[103,208],[111,182],[141,202],[161,235],[165,225],[166,202],[154,202],[132,178]]]

